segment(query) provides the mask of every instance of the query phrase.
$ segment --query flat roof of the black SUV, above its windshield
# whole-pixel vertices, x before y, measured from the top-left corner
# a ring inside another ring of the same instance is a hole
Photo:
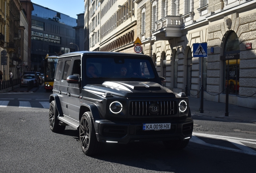
[[[148,56],[145,54],[138,54],[138,53],[124,53],[124,52],[97,52],[97,51],[81,51],[81,52],[70,52],[66,54],[62,54],[59,56],[59,58],[62,58],[64,56],[74,56],[78,54],[114,54],[114,55],[130,55],[130,56]]]

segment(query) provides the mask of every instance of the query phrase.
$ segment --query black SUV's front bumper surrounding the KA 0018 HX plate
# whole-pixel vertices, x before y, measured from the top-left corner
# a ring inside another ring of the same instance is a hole
[[[183,121],[169,121],[170,130],[143,131],[143,123],[155,122],[111,122],[106,120],[95,121],[95,131],[99,142],[113,142],[127,144],[142,141],[169,141],[190,139],[193,131],[193,119]],[[163,122],[157,122],[163,123]]]

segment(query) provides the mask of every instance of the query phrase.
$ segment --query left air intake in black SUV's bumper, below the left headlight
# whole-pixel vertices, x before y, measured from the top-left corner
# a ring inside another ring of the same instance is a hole
[[[104,137],[122,138],[126,135],[127,135],[126,126],[114,126],[114,125],[103,126]]]

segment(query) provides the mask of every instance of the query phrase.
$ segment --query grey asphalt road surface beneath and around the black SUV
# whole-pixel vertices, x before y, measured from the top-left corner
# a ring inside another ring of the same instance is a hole
[[[193,117],[194,136],[183,150],[167,150],[161,142],[110,144],[101,155],[88,157],[76,130],[50,130],[48,108],[41,106],[49,95],[42,86],[35,93],[0,95],[0,102],[9,101],[0,107],[1,173],[255,172],[254,124]],[[31,107],[20,107],[23,101]]]

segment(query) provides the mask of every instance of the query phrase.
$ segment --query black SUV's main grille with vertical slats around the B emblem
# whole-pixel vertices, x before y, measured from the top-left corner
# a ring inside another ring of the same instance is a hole
[[[158,105],[158,113],[151,114],[149,106],[153,103]],[[177,114],[176,101],[132,101],[130,103],[130,115],[132,116],[163,116]]]

